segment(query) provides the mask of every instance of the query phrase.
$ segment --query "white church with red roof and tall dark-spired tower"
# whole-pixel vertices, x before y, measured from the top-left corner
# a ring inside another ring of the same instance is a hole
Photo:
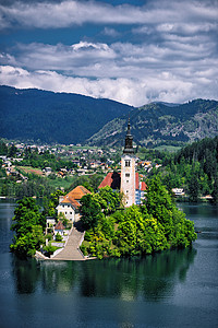
[[[135,165],[136,157],[134,155],[133,136],[131,134],[129,119],[123,155],[121,156],[121,173],[108,173],[98,188],[109,186],[113,190],[120,190],[124,195],[126,208],[132,204],[141,204],[144,199],[146,184],[140,181],[140,175],[135,172]]]

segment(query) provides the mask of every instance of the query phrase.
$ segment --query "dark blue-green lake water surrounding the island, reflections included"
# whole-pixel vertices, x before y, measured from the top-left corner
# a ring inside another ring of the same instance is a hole
[[[9,253],[14,203],[0,201],[0,328],[218,327],[218,207],[179,204],[191,249],[144,259],[27,261]]]

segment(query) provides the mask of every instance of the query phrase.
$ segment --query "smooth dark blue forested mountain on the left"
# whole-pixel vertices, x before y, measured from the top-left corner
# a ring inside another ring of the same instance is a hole
[[[2,138],[82,143],[133,107],[78,94],[0,86]]]

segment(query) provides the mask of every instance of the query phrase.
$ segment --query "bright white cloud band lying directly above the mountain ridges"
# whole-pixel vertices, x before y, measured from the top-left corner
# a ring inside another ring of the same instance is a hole
[[[0,67],[0,84],[20,89],[36,87],[55,92],[78,93],[110,98],[134,106],[155,101],[182,103],[196,97],[218,99],[217,84],[209,79],[202,78],[199,74],[196,77],[196,81],[184,81],[168,71],[142,79],[89,80],[66,77],[53,71],[29,72],[7,66]],[[215,94],[217,97],[214,97]]]

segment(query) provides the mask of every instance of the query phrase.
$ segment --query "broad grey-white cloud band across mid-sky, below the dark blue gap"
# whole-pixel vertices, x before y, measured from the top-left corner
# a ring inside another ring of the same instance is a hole
[[[19,44],[12,52],[0,55],[2,65],[29,70],[58,70],[68,74],[94,78],[137,78],[184,70],[195,72],[218,66],[216,43],[205,36],[165,35],[161,44],[80,42],[73,45]],[[207,59],[207,60],[206,60]],[[215,68],[214,71],[217,69]],[[214,74],[211,79],[214,79]]]

